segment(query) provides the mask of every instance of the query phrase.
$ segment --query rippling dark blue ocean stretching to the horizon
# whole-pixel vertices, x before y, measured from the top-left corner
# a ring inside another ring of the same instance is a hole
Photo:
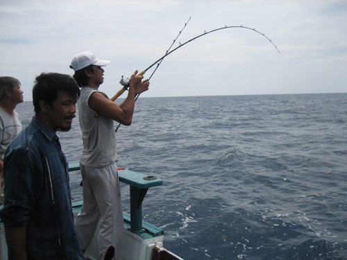
[[[28,125],[31,102],[17,112]],[[78,162],[78,119],[58,136]],[[118,167],[163,180],[144,220],[185,260],[347,259],[347,94],[139,98],[117,149]]]

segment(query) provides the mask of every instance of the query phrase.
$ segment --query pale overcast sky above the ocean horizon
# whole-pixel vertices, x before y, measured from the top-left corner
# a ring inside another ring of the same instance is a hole
[[[0,0],[0,75],[18,78],[31,101],[35,76],[72,75],[71,58],[92,51],[111,60],[100,89],[113,96],[122,75],[164,55],[189,17],[178,42],[242,25],[281,53],[244,28],[210,33],[167,56],[142,96],[347,92],[347,1],[335,0]]]

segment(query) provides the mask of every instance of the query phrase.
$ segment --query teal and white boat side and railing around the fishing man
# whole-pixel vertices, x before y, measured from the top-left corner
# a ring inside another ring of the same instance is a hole
[[[70,172],[79,170],[80,165],[78,163],[69,164]],[[124,230],[124,245],[121,253],[123,259],[183,260],[162,247],[164,231],[160,227],[155,227],[155,225],[142,221],[142,202],[144,197],[149,188],[162,185],[162,180],[151,175],[129,171],[125,168],[119,168],[118,175],[119,181],[130,186],[130,214],[123,212],[124,229],[126,229]],[[72,202],[74,215],[77,214],[82,205],[82,200]],[[97,241],[91,243],[85,254],[91,257],[90,259],[97,259],[99,255]],[[5,230],[1,221],[0,259],[8,259]]]

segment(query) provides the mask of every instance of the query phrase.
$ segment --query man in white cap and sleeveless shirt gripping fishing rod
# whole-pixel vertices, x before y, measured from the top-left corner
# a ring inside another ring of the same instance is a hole
[[[83,52],[74,56],[71,69],[81,87],[78,100],[78,119],[82,130],[83,152],[80,159],[83,180],[83,207],[76,218],[76,231],[85,252],[96,225],[101,220],[99,232],[99,259],[106,252],[115,250],[120,258],[123,234],[123,213],[117,173],[117,146],[115,123],[130,125],[133,120],[135,96],[149,88],[149,80],[137,71],[130,77],[128,96],[117,105],[100,92],[103,68],[108,60],[99,60],[93,53]],[[96,116],[96,113],[98,116]]]

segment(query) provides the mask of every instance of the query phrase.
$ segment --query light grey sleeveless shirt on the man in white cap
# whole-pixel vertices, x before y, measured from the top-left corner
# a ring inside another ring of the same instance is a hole
[[[115,123],[100,114],[95,116],[96,112],[88,105],[94,92],[99,90],[81,87],[81,96],[77,101],[83,139],[80,163],[84,166],[102,167],[117,161]],[[103,92],[100,93],[106,96]]]

